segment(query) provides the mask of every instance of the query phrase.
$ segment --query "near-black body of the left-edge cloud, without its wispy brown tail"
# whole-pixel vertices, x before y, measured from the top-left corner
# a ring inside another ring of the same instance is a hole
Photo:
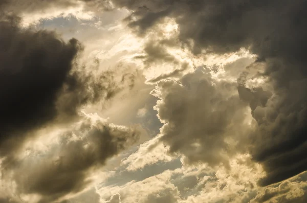
[[[64,42],[53,32],[20,29],[17,17],[3,18],[0,21],[2,155],[13,150],[11,147],[23,139],[23,134],[54,120],[59,108],[75,113],[76,103],[57,104],[63,86],[65,94],[85,91],[78,86],[77,75],[70,74],[74,59],[82,50],[76,39]],[[13,144],[6,143],[12,136]]]

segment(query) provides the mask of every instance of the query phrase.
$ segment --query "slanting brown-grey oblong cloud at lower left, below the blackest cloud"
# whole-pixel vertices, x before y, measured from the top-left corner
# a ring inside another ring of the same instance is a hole
[[[107,159],[139,139],[137,128],[82,121],[59,135],[48,152],[31,153],[14,169],[19,193],[40,194],[40,202],[51,202],[83,190],[92,181],[89,170],[103,166]]]

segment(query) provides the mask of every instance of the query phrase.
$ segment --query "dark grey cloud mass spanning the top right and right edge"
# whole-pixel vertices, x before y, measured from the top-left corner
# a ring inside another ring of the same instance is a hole
[[[127,20],[140,33],[163,17],[173,17],[179,38],[195,54],[202,50],[224,54],[240,48],[256,54],[257,61],[265,63],[261,76],[269,79],[273,89],[239,84],[238,91],[258,123],[251,152],[267,171],[260,184],[276,183],[307,169],[306,1],[114,2],[134,11]]]

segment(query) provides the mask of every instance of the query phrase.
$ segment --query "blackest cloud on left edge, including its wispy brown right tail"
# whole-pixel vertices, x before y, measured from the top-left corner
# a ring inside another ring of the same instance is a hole
[[[54,32],[19,28],[15,16],[0,21],[0,155],[17,149],[33,131],[65,124],[87,103],[118,91],[112,73],[93,76],[75,60],[78,40]]]

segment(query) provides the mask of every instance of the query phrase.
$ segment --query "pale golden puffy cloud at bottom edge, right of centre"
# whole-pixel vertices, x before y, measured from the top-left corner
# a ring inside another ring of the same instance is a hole
[[[259,164],[252,163],[249,155],[237,155],[230,160],[230,169],[213,171],[208,166],[182,168],[184,175],[174,178],[181,192],[180,203],[189,202],[244,202],[257,194],[257,179],[263,175]],[[195,168],[194,168],[195,167]]]

